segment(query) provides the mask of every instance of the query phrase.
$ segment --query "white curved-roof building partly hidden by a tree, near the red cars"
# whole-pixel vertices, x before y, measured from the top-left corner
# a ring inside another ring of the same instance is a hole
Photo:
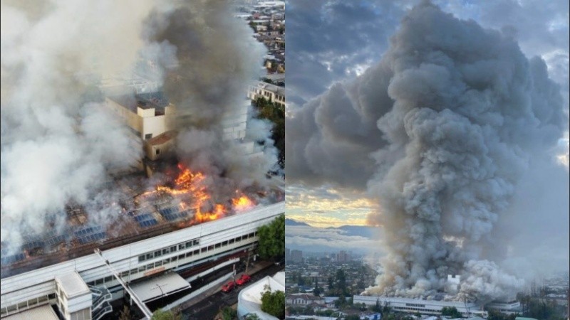
[[[242,289],[237,296],[238,319],[244,319],[247,314],[257,314],[261,320],[278,319],[261,311],[261,294],[266,290],[269,292],[285,292],[285,272],[277,272],[273,277],[264,277]]]

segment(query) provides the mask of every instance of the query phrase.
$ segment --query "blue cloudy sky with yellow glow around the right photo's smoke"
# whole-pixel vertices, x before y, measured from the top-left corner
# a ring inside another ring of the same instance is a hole
[[[388,49],[403,14],[419,1],[288,1],[287,99],[289,113],[331,88],[362,75]],[[516,39],[527,56],[546,62],[549,78],[561,86],[568,122],[568,1],[432,1],[457,18]],[[559,161],[568,166],[568,132],[559,142]],[[358,166],[360,164],[355,164]],[[341,169],[340,169],[341,170]],[[289,172],[288,174],[291,174]],[[358,177],[355,177],[357,179]],[[371,224],[375,207],[366,191],[327,183],[287,181],[287,216],[316,227]],[[374,224],[374,223],[372,223]]]

